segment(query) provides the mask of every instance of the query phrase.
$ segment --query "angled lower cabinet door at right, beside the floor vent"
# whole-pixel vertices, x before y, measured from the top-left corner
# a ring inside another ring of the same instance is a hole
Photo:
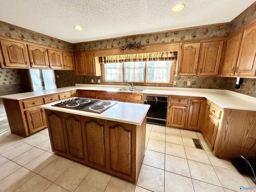
[[[217,128],[218,128],[218,120],[216,120],[212,115],[209,115],[207,124],[206,124],[206,137],[205,140],[210,145],[211,149],[214,146]]]

